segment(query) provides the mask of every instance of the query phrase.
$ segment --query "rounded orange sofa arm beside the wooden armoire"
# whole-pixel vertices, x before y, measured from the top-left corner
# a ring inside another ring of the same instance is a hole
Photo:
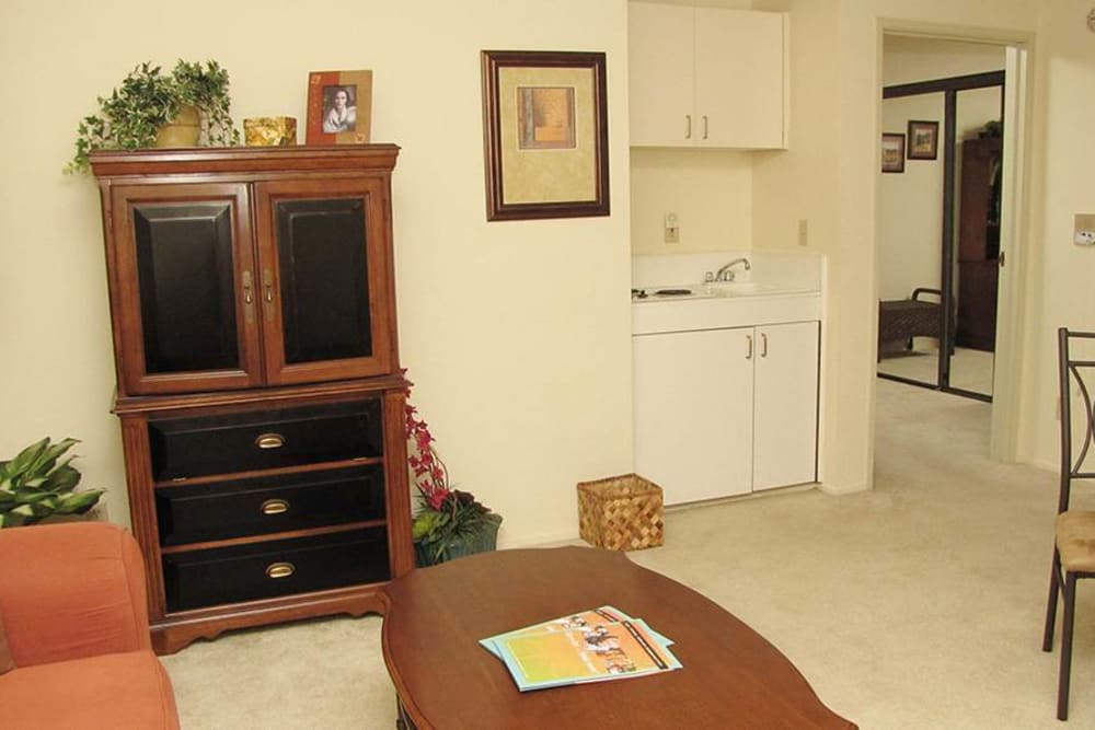
[[[0,530],[0,615],[16,667],[150,649],[145,568],[108,522]]]

